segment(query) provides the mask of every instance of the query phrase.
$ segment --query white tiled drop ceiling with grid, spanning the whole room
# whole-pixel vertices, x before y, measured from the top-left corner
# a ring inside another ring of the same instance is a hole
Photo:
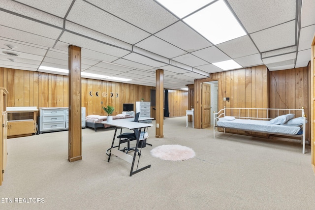
[[[180,89],[223,71],[213,63],[224,60],[271,71],[308,65],[315,0],[221,1],[246,35],[215,45],[156,0],[0,0],[0,67],[68,69],[75,45],[82,72],[155,87],[163,69],[164,88]]]

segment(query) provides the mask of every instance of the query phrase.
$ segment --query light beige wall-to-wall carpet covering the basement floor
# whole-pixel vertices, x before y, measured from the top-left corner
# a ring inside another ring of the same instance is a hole
[[[155,121],[154,121],[155,123]],[[314,210],[311,149],[295,141],[218,134],[186,127],[186,117],[164,120],[164,138],[149,129],[139,167],[112,156],[113,130],[83,129],[82,156],[68,162],[68,132],[8,139],[1,198],[43,198],[44,203],[0,203],[1,210]],[[163,161],[160,145],[183,145],[196,156]],[[132,146],[132,145],[131,145]],[[1,200],[2,201],[2,200]]]

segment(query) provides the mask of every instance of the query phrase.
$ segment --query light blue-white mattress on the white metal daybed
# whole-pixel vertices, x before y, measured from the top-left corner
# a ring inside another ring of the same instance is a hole
[[[283,134],[297,134],[301,129],[299,126],[288,125],[272,125],[267,124],[267,120],[218,120],[217,126],[225,128],[245,129],[257,132],[271,132],[271,133],[283,133]]]

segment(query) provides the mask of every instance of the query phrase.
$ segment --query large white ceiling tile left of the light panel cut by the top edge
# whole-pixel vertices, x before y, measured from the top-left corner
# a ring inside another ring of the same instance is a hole
[[[113,0],[89,1],[150,33],[155,33],[178,21],[175,16],[153,0],[125,0],[123,3],[120,1],[113,3]]]

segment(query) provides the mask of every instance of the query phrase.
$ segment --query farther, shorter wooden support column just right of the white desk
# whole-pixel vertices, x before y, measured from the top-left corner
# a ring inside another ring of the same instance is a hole
[[[164,88],[162,69],[156,71],[156,80],[156,138],[163,138]]]

